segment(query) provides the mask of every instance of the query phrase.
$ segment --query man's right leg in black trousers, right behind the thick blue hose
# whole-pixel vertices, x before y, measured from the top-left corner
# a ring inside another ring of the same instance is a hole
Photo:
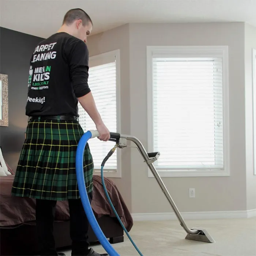
[[[88,195],[92,200],[92,192]],[[69,215],[70,215],[70,237],[72,240],[71,256],[105,256],[108,254],[98,254],[93,249],[89,249],[88,231],[90,223],[84,212],[81,199],[69,199]]]

